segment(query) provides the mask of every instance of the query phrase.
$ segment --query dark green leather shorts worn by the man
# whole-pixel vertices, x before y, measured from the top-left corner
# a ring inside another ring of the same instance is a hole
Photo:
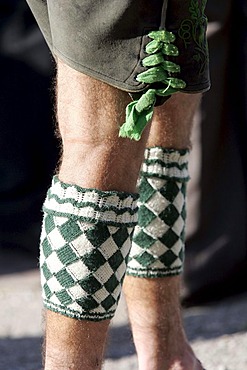
[[[147,68],[150,31],[171,31],[184,92],[209,89],[206,0],[27,0],[51,52],[70,67],[128,92]],[[165,9],[165,11],[164,11]],[[168,56],[173,61],[173,56]]]

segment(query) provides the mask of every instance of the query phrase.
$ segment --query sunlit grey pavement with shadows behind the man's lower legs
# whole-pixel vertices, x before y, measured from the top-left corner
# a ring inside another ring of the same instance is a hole
[[[37,261],[24,257],[0,253],[0,370],[42,368],[39,272]],[[247,292],[183,309],[183,318],[188,338],[206,370],[247,370]],[[138,369],[124,297],[110,327],[103,369]]]

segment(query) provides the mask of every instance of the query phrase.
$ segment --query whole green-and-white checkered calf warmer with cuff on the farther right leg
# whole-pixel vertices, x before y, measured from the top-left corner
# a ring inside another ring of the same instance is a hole
[[[146,149],[127,274],[163,277],[182,272],[188,150]]]

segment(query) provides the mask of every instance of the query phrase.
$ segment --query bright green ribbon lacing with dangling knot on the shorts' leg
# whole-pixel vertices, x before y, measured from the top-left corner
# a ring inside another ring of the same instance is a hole
[[[156,96],[168,97],[185,88],[183,80],[172,77],[172,73],[179,73],[180,67],[165,60],[165,56],[178,56],[179,51],[172,44],[175,36],[166,30],[149,33],[152,41],[146,46],[146,53],[150,54],[143,60],[143,66],[148,69],[137,76],[137,81],[153,85],[161,83],[164,88],[149,88],[138,100],[131,102],[126,108],[126,121],[121,126],[119,136],[140,140],[143,130],[153,116]]]

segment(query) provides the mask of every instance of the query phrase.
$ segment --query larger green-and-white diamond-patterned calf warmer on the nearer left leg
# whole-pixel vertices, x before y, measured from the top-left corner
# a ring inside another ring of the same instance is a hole
[[[57,177],[44,203],[40,268],[46,308],[82,320],[114,316],[137,221],[137,196]]]

